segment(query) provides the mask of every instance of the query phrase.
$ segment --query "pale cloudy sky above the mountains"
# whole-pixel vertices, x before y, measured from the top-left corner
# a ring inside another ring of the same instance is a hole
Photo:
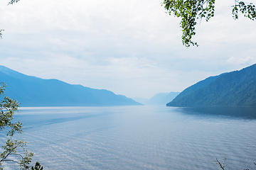
[[[181,42],[181,18],[161,0],[0,1],[0,65],[129,98],[183,91],[196,82],[256,63],[256,21],[234,1],[216,0],[215,16]],[[252,0],[256,4],[256,0]]]

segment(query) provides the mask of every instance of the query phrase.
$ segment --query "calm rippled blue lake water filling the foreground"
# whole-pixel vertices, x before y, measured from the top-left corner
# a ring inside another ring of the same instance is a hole
[[[224,154],[225,169],[256,169],[255,108],[21,110],[19,138],[30,142],[43,169],[220,169],[213,161],[223,162]]]

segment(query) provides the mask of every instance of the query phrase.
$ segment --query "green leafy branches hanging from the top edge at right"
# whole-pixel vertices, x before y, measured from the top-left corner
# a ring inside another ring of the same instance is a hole
[[[181,17],[183,45],[198,47],[198,43],[191,40],[192,36],[196,35],[197,20],[201,22],[202,18],[206,18],[206,21],[209,21],[214,16],[215,0],[164,0],[162,6],[169,15],[173,13],[174,16]],[[243,1],[235,0],[235,5],[232,7],[233,18],[238,19],[238,11],[240,11],[252,21],[256,19],[256,8],[252,3],[246,4]]]

